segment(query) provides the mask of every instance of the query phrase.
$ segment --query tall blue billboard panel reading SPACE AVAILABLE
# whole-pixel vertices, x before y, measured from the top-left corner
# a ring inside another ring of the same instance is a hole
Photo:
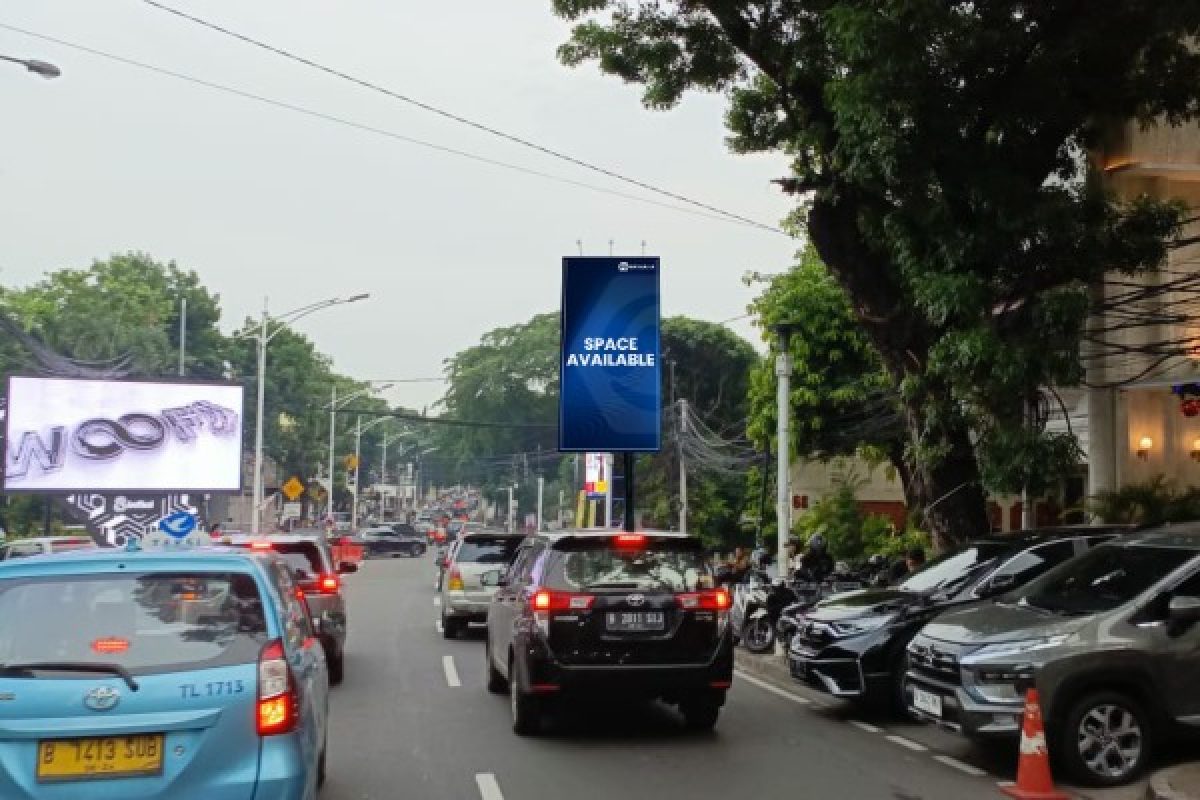
[[[563,259],[559,378],[559,450],[659,450],[658,258]]]

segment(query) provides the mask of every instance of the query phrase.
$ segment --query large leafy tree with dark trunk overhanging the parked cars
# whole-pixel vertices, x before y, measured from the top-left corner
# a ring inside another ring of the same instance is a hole
[[[899,387],[910,495],[940,542],[1073,445],[1026,425],[1079,378],[1087,287],[1154,269],[1181,210],[1117,203],[1085,154],[1200,107],[1200,5],[1127,0],[553,0],[571,65],[670,108],[730,98],[737,152],[781,152],[803,227]],[[584,19],[587,18],[587,19]]]

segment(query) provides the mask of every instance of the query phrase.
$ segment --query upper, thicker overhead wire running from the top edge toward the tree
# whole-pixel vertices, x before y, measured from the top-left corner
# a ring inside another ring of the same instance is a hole
[[[444,119],[451,120],[454,122],[458,122],[460,125],[466,125],[466,126],[472,127],[472,128],[474,128],[476,131],[481,131],[484,133],[487,133],[490,136],[504,139],[506,142],[511,142],[511,143],[517,144],[517,145],[520,145],[522,148],[527,148],[529,150],[534,150],[534,151],[540,152],[542,155],[551,156],[552,158],[558,158],[559,161],[564,161],[566,163],[574,164],[576,167],[581,167],[581,168],[587,169],[589,172],[598,173],[600,175],[605,175],[606,178],[612,178],[614,180],[622,181],[623,184],[629,184],[630,186],[636,186],[636,187],[646,190],[648,192],[654,192],[655,194],[660,194],[662,197],[668,197],[672,200],[678,200],[680,203],[685,203],[685,204],[695,206],[697,209],[703,209],[704,211],[710,211],[710,212],[720,215],[722,217],[728,217],[730,219],[734,219],[737,222],[740,222],[740,223],[746,224],[746,225],[751,225],[754,228],[760,228],[762,230],[769,230],[770,233],[780,234],[780,235],[784,235],[784,236],[788,235],[787,231],[785,231],[784,229],[781,229],[781,228],[779,228],[776,225],[769,225],[767,223],[758,222],[757,219],[751,219],[750,217],[744,217],[744,216],[742,216],[739,213],[734,213],[732,211],[726,211],[725,209],[718,207],[715,205],[709,205],[709,204],[702,203],[700,200],[694,200],[692,198],[686,197],[684,194],[679,194],[677,192],[672,192],[670,190],[665,190],[665,188],[654,186],[653,184],[648,184],[646,181],[637,180],[636,178],[630,178],[628,175],[618,173],[614,169],[608,169],[607,167],[601,167],[599,164],[594,164],[594,163],[592,163],[589,161],[584,161],[583,158],[572,156],[572,155],[563,152],[560,150],[554,150],[552,148],[547,148],[546,145],[538,144],[536,142],[532,142],[529,139],[526,139],[523,137],[516,136],[514,133],[508,133],[508,132],[502,131],[502,130],[499,130],[497,127],[493,127],[491,125],[485,125],[484,122],[479,122],[476,120],[462,116],[461,114],[455,114],[454,112],[448,112],[448,110],[445,110],[443,108],[438,108],[437,106],[433,106],[432,103],[427,103],[425,101],[416,100],[415,97],[413,97],[410,95],[406,95],[406,94],[398,92],[398,91],[396,91],[394,89],[388,89],[386,86],[383,86],[383,85],[377,84],[377,83],[372,83],[370,80],[366,80],[365,78],[359,78],[356,76],[352,76],[352,74],[349,74],[347,72],[342,72],[341,70],[335,70],[334,67],[325,66],[324,64],[319,64],[317,61],[313,61],[312,59],[307,59],[307,58],[305,58],[302,55],[298,55],[295,53],[292,53],[290,50],[286,50],[286,49],[283,49],[281,47],[277,47],[275,44],[270,44],[270,43],[264,42],[262,40],[253,38],[252,36],[247,36],[246,34],[241,34],[241,32],[232,30],[229,28],[224,28],[222,25],[218,25],[216,23],[209,22],[209,20],[203,19],[200,17],[196,17],[193,14],[190,14],[190,13],[186,13],[184,11],[180,11],[178,8],[173,8],[172,6],[168,6],[168,5],[164,5],[162,2],[158,2],[157,0],[143,0],[143,2],[145,2],[146,5],[152,6],[155,8],[158,8],[161,11],[166,11],[167,13],[174,14],[175,17],[179,17],[180,19],[186,19],[187,22],[194,23],[197,25],[202,25],[203,28],[208,28],[209,30],[216,31],[216,32],[218,32],[218,34],[221,34],[223,36],[229,36],[229,37],[235,38],[235,40],[238,40],[240,42],[250,44],[252,47],[257,47],[257,48],[259,48],[262,50],[266,50],[269,53],[274,53],[275,55],[278,55],[278,56],[282,56],[284,59],[288,59],[289,61],[294,61],[296,64],[301,64],[301,65],[304,65],[306,67],[311,67],[313,70],[317,70],[318,72],[323,72],[323,73],[325,73],[328,76],[332,76],[332,77],[338,78],[341,80],[347,80],[347,82],[353,83],[353,84],[355,84],[358,86],[361,86],[364,89],[368,89],[368,90],[371,90],[373,92],[378,92],[380,95],[385,95],[388,97],[391,97],[392,100],[398,100],[402,103],[408,103],[409,106],[414,106],[416,108],[420,108],[421,110],[428,112],[431,114],[436,114],[438,116],[442,116]]]

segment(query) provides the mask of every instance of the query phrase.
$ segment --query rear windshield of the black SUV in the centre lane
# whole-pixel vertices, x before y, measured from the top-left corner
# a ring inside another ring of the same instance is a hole
[[[618,548],[607,542],[556,552],[547,565],[545,584],[550,589],[638,589],[649,591],[696,591],[712,589],[713,572],[697,549],[649,545],[646,548]]]

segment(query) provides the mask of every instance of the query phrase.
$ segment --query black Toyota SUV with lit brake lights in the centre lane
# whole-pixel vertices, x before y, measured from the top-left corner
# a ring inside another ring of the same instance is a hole
[[[710,729],[733,679],[730,595],[682,534],[527,537],[487,610],[487,688],[508,691],[512,729],[536,733],[552,703],[586,692],[659,698]]]

